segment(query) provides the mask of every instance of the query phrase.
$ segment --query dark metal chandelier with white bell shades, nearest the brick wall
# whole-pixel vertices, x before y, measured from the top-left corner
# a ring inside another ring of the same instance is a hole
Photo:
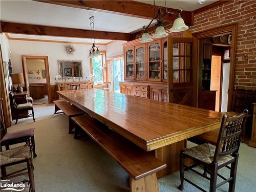
[[[166,6],[166,0],[164,1],[165,5],[164,5],[164,10],[162,11],[161,8],[158,8],[157,13],[156,13],[156,7],[155,7],[155,0],[154,0],[154,16],[153,19],[151,20],[151,22],[147,25],[147,26],[143,26],[144,32],[142,34],[142,38],[140,40],[140,42],[151,42],[153,41],[153,39],[150,37],[150,34],[148,34],[147,32],[147,28],[150,27],[150,25],[152,24],[152,22],[154,20],[157,21],[156,24],[156,31],[155,34],[153,35],[154,38],[162,38],[162,37],[166,37],[168,36],[168,33],[166,33],[166,31],[164,30],[164,27],[162,26],[163,23],[163,17],[165,14],[174,14],[177,15],[177,18],[174,20],[174,24],[173,27],[170,28],[170,32],[181,32],[181,31],[185,31],[188,29],[188,26],[185,25],[184,20],[181,17],[181,12],[183,11],[183,9],[180,9],[180,12],[175,13],[172,11],[168,11],[167,10],[167,6]]]

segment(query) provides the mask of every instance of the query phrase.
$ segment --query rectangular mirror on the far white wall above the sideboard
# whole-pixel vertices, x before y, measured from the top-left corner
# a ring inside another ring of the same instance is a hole
[[[82,60],[58,60],[58,71],[60,78],[83,78]]]

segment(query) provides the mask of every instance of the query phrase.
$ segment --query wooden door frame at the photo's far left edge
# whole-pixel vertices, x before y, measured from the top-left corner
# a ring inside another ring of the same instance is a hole
[[[6,89],[6,81],[5,81],[5,75],[4,75],[4,62],[3,62],[3,58],[2,58],[2,49],[0,46],[0,97],[2,99],[2,107],[3,107],[3,111],[1,109],[1,113],[3,112],[3,123],[5,128],[10,127],[11,126],[11,111],[10,111],[10,101],[9,101],[9,94],[7,92]],[[7,73],[7,72],[6,72]],[[9,77],[8,77],[9,78]]]

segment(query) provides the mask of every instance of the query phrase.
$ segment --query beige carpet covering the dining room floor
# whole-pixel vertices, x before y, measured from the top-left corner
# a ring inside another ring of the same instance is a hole
[[[91,138],[74,140],[73,134],[68,134],[66,115],[53,115],[53,104],[34,105],[34,109],[35,123],[32,118],[22,119],[8,131],[35,127],[37,157],[33,164],[37,192],[129,191],[129,176],[114,159]],[[228,170],[224,168],[221,173],[227,175]],[[194,173],[185,172],[185,177],[208,189],[209,182]],[[162,192],[180,191],[179,182],[178,172],[158,180]],[[227,190],[225,184],[217,191]],[[183,191],[199,190],[185,182]],[[240,147],[236,191],[256,191],[256,149],[246,144]]]

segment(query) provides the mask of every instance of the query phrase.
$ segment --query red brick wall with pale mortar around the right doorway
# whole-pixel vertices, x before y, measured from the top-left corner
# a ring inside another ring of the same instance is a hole
[[[194,15],[191,32],[238,23],[234,87],[256,89],[256,1],[233,1]],[[165,24],[166,31],[172,27]],[[150,32],[154,32],[152,29]],[[140,38],[141,33],[136,34]]]

